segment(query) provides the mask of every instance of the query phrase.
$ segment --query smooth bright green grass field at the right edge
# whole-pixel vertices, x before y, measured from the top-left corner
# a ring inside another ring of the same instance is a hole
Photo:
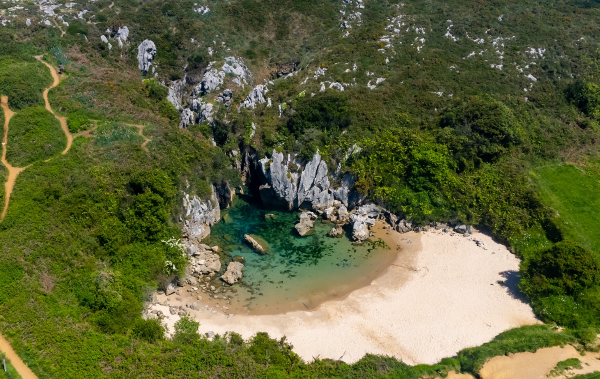
[[[600,176],[571,165],[539,167],[536,182],[542,200],[555,209],[563,236],[600,252]]]

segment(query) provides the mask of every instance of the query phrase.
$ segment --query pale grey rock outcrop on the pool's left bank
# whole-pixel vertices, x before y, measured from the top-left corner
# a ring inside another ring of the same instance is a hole
[[[184,234],[190,240],[202,240],[211,233],[211,226],[221,219],[215,188],[211,185],[211,198],[200,201],[195,195],[184,195],[185,224]]]

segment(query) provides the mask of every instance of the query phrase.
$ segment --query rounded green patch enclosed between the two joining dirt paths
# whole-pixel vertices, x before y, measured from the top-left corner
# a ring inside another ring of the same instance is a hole
[[[6,158],[23,167],[52,158],[67,146],[58,120],[42,107],[24,109],[10,120]]]

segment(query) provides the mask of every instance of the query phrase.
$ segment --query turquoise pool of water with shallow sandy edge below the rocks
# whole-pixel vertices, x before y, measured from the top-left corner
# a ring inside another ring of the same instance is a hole
[[[237,292],[232,306],[238,311],[275,314],[314,309],[367,285],[397,254],[381,240],[353,245],[349,230],[341,238],[329,237],[333,224],[321,219],[315,221],[312,234],[301,237],[294,228],[299,214],[266,209],[240,197],[221,212],[221,221],[205,242],[224,250],[223,267],[235,255],[246,260],[242,282],[233,286]],[[248,246],[244,234],[266,242],[266,254]]]

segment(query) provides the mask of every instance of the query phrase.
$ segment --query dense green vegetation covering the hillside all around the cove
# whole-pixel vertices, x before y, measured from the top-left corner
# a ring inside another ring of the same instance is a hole
[[[17,111],[7,157],[16,166],[34,163],[20,174],[0,224],[0,330],[39,377],[418,378],[476,372],[488,357],[509,352],[576,342],[593,348],[600,330],[598,4],[371,0],[361,25],[343,37],[338,1],[211,1],[207,14],[187,1],[110,3],[56,10],[70,23],[62,37],[34,10],[13,10],[19,17],[0,27],[0,94]],[[401,14],[407,25],[388,47],[382,38],[393,28],[386,26]],[[123,49],[100,40],[125,25]],[[146,38],[157,46],[152,79],[137,69],[137,45]],[[99,125],[64,156],[58,122],[39,108],[50,75],[32,56],[42,53],[65,65],[49,95],[55,112],[72,132]],[[212,125],[180,130],[161,83],[187,77],[191,90],[210,61],[226,56],[244,59],[256,84],[272,81],[273,106],[236,112],[246,86]],[[297,74],[278,75],[282,67]],[[326,74],[315,80],[319,68]],[[378,78],[385,81],[367,87]],[[324,80],[345,89],[321,92]],[[149,153],[127,123],[148,125]],[[346,157],[355,145],[360,151]],[[286,341],[262,333],[208,341],[185,319],[165,338],[140,310],[185,264],[163,242],[181,234],[181,191],[206,197],[211,184],[236,187],[241,176],[230,151],[273,149],[301,159],[318,149],[332,171],[339,162],[356,175],[362,194],[413,221],[488,228],[524,258],[521,287],[548,324],[416,367],[378,356],[354,365],[305,363]],[[2,168],[3,183],[5,175]],[[567,330],[556,333],[552,323]]]

